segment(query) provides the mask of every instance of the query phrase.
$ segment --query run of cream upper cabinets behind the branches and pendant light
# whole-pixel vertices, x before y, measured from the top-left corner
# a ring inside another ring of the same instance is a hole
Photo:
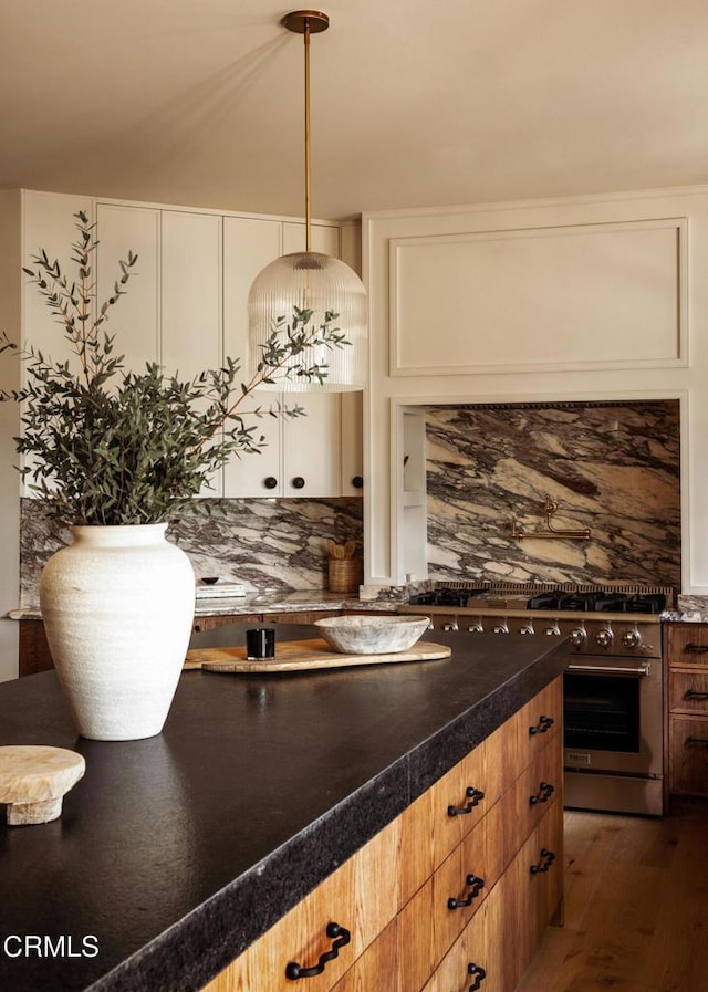
[[[93,278],[98,304],[113,295],[119,262],[129,252],[137,254],[125,293],[108,310],[106,333],[115,335],[114,353],[125,356],[126,368],[142,372],[146,363],[158,362],[167,375],[183,380],[218,368],[226,356],[240,361],[246,376],[250,286],[273,259],[305,247],[302,222],[44,192],[25,191],[22,197],[27,264],[45,249],[73,274],[74,215],[83,210],[95,219]],[[313,224],[312,248],[339,257],[339,227]],[[24,343],[66,358],[61,327],[29,281],[22,289],[22,305]],[[251,394],[239,411],[247,426],[253,426],[254,436],[263,436],[261,453],[233,456],[202,495],[332,498],[361,492],[352,482],[361,474],[357,399],[345,400],[343,459],[337,394]],[[294,419],[269,415],[271,407],[283,404],[302,407],[304,415]]]

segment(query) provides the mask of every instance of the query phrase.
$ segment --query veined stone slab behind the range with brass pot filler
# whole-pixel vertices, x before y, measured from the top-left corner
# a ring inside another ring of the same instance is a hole
[[[680,588],[677,400],[430,407],[433,579],[623,581]],[[590,541],[532,537],[590,528]]]

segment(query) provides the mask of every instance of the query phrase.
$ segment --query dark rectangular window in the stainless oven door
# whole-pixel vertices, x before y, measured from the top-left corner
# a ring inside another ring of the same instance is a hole
[[[564,743],[592,751],[639,751],[639,682],[565,672]]]

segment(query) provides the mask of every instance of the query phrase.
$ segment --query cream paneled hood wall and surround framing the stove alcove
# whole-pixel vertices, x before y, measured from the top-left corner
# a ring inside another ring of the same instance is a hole
[[[402,409],[673,398],[683,589],[708,593],[708,188],[369,213],[363,244],[366,582],[405,581],[420,546]]]

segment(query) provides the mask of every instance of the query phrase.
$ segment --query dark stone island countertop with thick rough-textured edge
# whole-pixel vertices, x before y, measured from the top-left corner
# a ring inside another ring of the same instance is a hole
[[[0,685],[0,745],[86,759],[60,819],[8,827],[0,806],[2,992],[200,989],[566,665],[534,638],[434,637],[451,658],[185,672],[147,741],[77,738],[53,671]],[[63,956],[13,957],[27,934]]]

